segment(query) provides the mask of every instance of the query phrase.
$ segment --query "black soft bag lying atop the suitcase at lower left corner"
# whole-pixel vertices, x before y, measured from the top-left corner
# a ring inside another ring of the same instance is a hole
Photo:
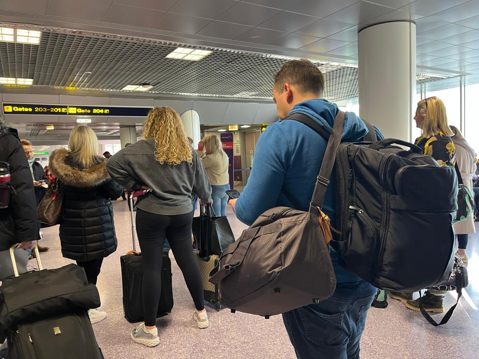
[[[19,276],[13,255],[15,246],[10,248],[15,277],[2,282],[0,287],[0,343],[5,340],[6,331],[18,323],[100,306],[98,289],[88,283],[83,268],[68,264],[43,269],[37,247],[39,271]]]

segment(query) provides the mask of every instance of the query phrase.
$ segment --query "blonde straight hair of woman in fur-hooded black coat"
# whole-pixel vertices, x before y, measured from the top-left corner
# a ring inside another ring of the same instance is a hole
[[[83,168],[90,168],[98,156],[98,138],[88,126],[75,126],[71,130],[68,147],[76,162]]]

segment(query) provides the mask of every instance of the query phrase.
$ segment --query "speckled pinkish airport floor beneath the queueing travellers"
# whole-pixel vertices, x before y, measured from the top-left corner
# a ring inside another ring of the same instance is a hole
[[[209,309],[211,326],[195,327],[193,303],[178,266],[172,257],[175,306],[170,315],[159,319],[161,344],[146,348],[133,343],[129,333],[134,325],[123,317],[119,256],[131,249],[131,224],[128,207],[121,199],[114,202],[115,224],[119,240],[116,253],[106,258],[98,281],[102,310],[108,318],[94,325],[98,343],[106,359],[290,359],[295,358],[280,316],[269,320],[228,310]],[[236,237],[245,228],[232,212],[230,222]],[[478,223],[478,222],[477,222]],[[42,254],[48,268],[70,261],[61,257],[58,227],[43,229],[43,245],[50,251]],[[476,359],[479,357],[479,245],[478,236],[470,239],[470,286],[451,321],[441,327],[431,326],[418,312],[389,299],[387,309],[372,308],[361,341],[361,358],[366,359]],[[414,248],[411,248],[414,250]],[[425,253],[427,255],[427,253]],[[411,263],[414,265],[414,263]],[[446,296],[447,307],[455,302]],[[435,316],[440,318],[440,316]],[[333,358],[331,358],[333,359]]]

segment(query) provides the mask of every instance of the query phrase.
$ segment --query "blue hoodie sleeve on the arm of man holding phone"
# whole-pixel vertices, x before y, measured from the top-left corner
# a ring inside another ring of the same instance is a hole
[[[268,126],[259,136],[251,174],[235,203],[235,213],[241,222],[251,225],[261,213],[276,206],[289,151],[289,141],[278,126]]]

